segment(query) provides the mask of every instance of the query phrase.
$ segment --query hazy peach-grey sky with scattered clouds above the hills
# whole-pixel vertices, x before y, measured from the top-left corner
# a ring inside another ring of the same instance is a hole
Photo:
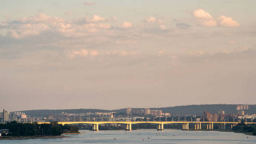
[[[256,0],[0,0],[0,109],[255,104]]]

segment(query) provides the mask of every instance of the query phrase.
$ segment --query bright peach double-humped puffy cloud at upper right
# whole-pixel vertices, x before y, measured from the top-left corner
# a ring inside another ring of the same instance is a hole
[[[239,23],[233,21],[231,17],[226,17],[224,15],[219,16],[217,19],[212,18],[212,16],[203,9],[197,9],[193,12],[197,23],[202,26],[224,26],[224,27],[237,27],[240,26]]]

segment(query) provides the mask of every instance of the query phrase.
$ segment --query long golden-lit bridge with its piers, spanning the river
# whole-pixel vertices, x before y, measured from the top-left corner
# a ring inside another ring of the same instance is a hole
[[[50,123],[50,122],[37,122],[38,124],[42,123]],[[213,130],[214,123],[219,124],[219,129],[225,130],[226,124],[230,124],[231,128],[235,125],[237,125],[240,122],[224,122],[224,121],[58,121],[59,124],[92,124],[92,130],[98,131],[98,125],[99,124],[108,124],[108,123],[120,123],[120,124],[126,124],[125,130],[126,131],[132,131],[132,124],[140,124],[140,123],[154,123],[158,124],[157,130],[164,130],[163,125],[164,124],[172,124],[172,123],[182,123],[182,129],[183,130],[189,130],[189,125],[195,124],[195,130],[201,130],[202,124],[206,125],[207,130]],[[245,124],[256,124],[256,122],[244,122]]]

